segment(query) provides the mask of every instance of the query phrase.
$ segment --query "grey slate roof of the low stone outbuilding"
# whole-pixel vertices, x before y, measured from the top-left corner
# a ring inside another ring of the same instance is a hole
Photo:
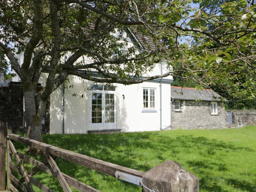
[[[218,93],[211,89],[195,90],[195,88],[188,87],[171,87],[171,98],[180,100],[200,100],[200,101],[227,101],[227,99],[221,97]]]

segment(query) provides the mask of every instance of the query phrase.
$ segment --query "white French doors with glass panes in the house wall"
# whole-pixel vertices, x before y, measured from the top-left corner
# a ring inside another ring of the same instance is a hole
[[[116,128],[116,94],[115,91],[91,90],[90,95],[90,129]]]

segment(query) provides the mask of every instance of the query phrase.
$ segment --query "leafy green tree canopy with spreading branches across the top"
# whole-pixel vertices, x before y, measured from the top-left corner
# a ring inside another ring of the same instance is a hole
[[[200,86],[219,84],[230,94],[239,90],[255,98],[255,1],[225,2],[211,14],[192,7],[200,2],[1,1],[0,51],[22,81],[25,108],[31,112],[26,117],[29,130],[39,127],[46,100],[68,75],[123,84],[180,75]],[[135,46],[129,46],[129,39]],[[21,66],[19,53],[24,53]],[[84,55],[91,59],[76,62]],[[163,59],[170,72],[140,78]],[[42,72],[48,78],[36,94]],[[28,133],[39,140],[39,131]]]

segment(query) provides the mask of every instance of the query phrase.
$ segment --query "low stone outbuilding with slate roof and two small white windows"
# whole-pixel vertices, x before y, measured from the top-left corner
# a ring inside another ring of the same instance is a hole
[[[172,128],[227,128],[226,101],[211,89],[172,86]]]

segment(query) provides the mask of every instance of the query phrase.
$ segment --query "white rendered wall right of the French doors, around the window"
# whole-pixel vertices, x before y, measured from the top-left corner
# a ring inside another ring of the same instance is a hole
[[[118,84],[117,128],[123,132],[160,130],[160,83]],[[156,89],[156,111],[143,112],[143,87]],[[123,99],[122,95],[125,95]],[[170,125],[170,84],[162,84],[162,125]]]

